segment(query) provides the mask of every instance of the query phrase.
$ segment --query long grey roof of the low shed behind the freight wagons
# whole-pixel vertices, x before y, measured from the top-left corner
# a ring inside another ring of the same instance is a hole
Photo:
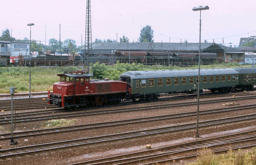
[[[169,43],[169,42],[103,42],[94,43],[92,49],[96,50],[158,50],[158,51],[198,51],[199,43]],[[203,51],[230,51],[230,52],[243,52],[234,48],[229,48],[216,43],[201,43],[201,50]]]

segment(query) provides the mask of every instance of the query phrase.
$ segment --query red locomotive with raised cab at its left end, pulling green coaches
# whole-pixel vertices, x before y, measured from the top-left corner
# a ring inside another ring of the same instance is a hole
[[[53,84],[52,94],[48,87],[48,104],[91,107],[118,104],[131,98],[131,85],[124,81],[90,80],[92,74],[84,71],[64,72],[57,76],[60,76],[60,82]]]

